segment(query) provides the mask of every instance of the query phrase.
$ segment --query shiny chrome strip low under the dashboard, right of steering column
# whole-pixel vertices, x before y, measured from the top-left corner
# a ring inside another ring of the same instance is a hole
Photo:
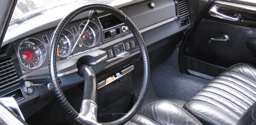
[[[119,72],[116,73],[116,76],[117,76],[117,77],[112,76],[112,77],[107,78],[106,80],[101,81],[101,82],[98,84],[98,89],[100,89],[100,88],[102,88],[102,87],[104,87],[104,86],[110,84],[111,82],[113,82],[113,81],[115,81],[115,80],[117,80],[117,79],[123,77],[125,74],[131,72],[133,69],[134,69],[134,66],[132,65],[132,66],[130,66],[129,68],[126,68],[126,69],[122,70],[122,71],[121,71],[122,74],[120,74]]]

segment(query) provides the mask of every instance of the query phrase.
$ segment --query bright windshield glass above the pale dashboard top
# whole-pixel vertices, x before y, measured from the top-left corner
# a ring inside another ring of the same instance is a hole
[[[132,0],[130,0],[132,1]],[[29,19],[33,19],[38,15],[47,13],[52,9],[60,6],[69,6],[69,8],[76,9],[85,4],[102,3],[109,5],[118,5],[129,2],[127,0],[19,0],[10,21],[9,27],[14,24],[20,24]]]

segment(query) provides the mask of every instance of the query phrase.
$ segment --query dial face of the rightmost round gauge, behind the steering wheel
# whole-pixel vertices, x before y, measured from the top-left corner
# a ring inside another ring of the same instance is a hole
[[[82,41],[84,46],[93,47],[97,44],[98,40],[96,40],[95,32],[90,26],[87,26],[86,29],[83,31],[86,22],[87,21],[82,22],[79,26],[79,35],[82,34],[81,38],[79,38],[79,39]]]

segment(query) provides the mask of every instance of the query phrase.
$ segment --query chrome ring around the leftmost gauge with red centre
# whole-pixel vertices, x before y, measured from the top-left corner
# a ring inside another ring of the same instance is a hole
[[[33,41],[31,41],[31,40],[29,40],[29,39],[38,40],[42,45],[36,45],[36,43],[34,43]],[[42,59],[39,61],[39,64],[38,64],[38,65],[35,65],[34,68],[28,68],[26,65],[24,65],[24,64],[22,63],[22,60],[21,60],[21,57],[20,57],[19,48],[20,48],[21,44],[23,44],[23,43],[25,43],[25,42],[26,42],[26,43],[31,43],[31,44],[36,45],[36,46],[39,48],[40,52],[41,52]],[[45,53],[43,52],[44,49],[45,49]],[[18,56],[19,56],[19,60],[20,60],[21,64],[22,64],[23,66],[25,66],[25,68],[27,68],[27,69],[37,69],[37,68],[39,68],[39,67],[44,63],[44,61],[45,61],[45,59],[46,59],[46,53],[47,53],[46,46],[44,45],[44,43],[43,43],[42,41],[40,41],[39,39],[36,39],[36,38],[26,38],[26,39],[24,39],[24,40],[21,41],[21,43],[19,44],[19,47],[18,47]]]

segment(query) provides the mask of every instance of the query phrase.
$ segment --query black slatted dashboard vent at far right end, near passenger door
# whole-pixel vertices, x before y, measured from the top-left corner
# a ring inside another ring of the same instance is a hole
[[[183,18],[189,15],[188,3],[186,0],[176,0],[177,16]]]

